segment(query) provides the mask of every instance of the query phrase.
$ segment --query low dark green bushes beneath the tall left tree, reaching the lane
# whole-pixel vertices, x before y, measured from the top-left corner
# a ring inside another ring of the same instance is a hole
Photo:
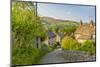
[[[41,58],[50,52],[48,46],[42,45],[41,48],[34,46],[13,48],[13,65],[40,64]]]

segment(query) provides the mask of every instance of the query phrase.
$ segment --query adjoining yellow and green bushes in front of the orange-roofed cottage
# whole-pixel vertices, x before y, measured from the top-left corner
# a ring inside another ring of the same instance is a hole
[[[64,50],[79,50],[89,55],[95,55],[96,53],[96,44],[93,40],[86,40],[84,43],[79,44],[75,39],[66,36],[62,39],[61,46]]]

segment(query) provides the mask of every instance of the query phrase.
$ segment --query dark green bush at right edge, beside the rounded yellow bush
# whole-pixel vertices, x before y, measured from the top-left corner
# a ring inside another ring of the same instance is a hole
[[[96,52],[96,44],[92,40],[87,40],[82,44],[79,50],[85,51],[89,53],[90,55],[94,55]]]

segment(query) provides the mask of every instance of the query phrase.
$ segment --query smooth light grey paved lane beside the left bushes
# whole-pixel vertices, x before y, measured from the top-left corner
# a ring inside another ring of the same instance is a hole
[[[53,52],[48,53],[42,59],[42,63],[60,63],[66,62],[64,58],[61,57],[61,49],[56,49]]]

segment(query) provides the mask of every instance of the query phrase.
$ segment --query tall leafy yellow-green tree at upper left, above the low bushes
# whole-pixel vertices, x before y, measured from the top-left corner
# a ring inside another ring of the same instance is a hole
[[[36,16],[36,6],[31,2],[13,2],[12,32],[14,39],[31,42],[35,37],[45,37],[45,29]],[[29,41],[30,40],[30,41]]]

